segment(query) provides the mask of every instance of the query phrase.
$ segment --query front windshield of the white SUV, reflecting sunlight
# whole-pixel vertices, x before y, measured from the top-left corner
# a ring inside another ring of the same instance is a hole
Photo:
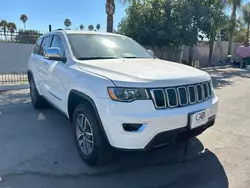
[[[74,56],[79,60],[154,58],[134,40],[123,36],[68,34]]]

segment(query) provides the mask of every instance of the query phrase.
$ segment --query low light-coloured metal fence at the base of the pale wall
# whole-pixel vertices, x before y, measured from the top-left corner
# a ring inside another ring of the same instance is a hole
[[[27,71],[0,72],[0,86],[28,84]]]

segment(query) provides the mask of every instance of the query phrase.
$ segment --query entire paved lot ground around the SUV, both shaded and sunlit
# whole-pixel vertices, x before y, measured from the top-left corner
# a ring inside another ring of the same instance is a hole
[[[36,111],[28,90],[0,93],[0,188],[250,187],[250,72],[208,70],[220,111],[216,124],[187,143],[150,152],[117,152],[90,167],[69,121]]]

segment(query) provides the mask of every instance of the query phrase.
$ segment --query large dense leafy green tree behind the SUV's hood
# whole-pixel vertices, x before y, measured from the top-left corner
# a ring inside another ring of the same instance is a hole
[[[126,9],[126,15],[118,25],[118,33],[142,45],[174,47],[176,61],[179,47],[190,46],[190,65],[193,47],[204,37],[210,39],[212,54],[216,33],[224,26],[226,19],[220,0],[204,0],[202,3],[200,0],[133,3]]]

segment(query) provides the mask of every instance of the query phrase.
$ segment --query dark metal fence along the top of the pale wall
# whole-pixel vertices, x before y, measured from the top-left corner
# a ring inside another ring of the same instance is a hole
[[[38,37],[47,33],[47,31],[37,30],[0,30],[0,42],[13,42],[13,43],[28,43],[35,44]]]

